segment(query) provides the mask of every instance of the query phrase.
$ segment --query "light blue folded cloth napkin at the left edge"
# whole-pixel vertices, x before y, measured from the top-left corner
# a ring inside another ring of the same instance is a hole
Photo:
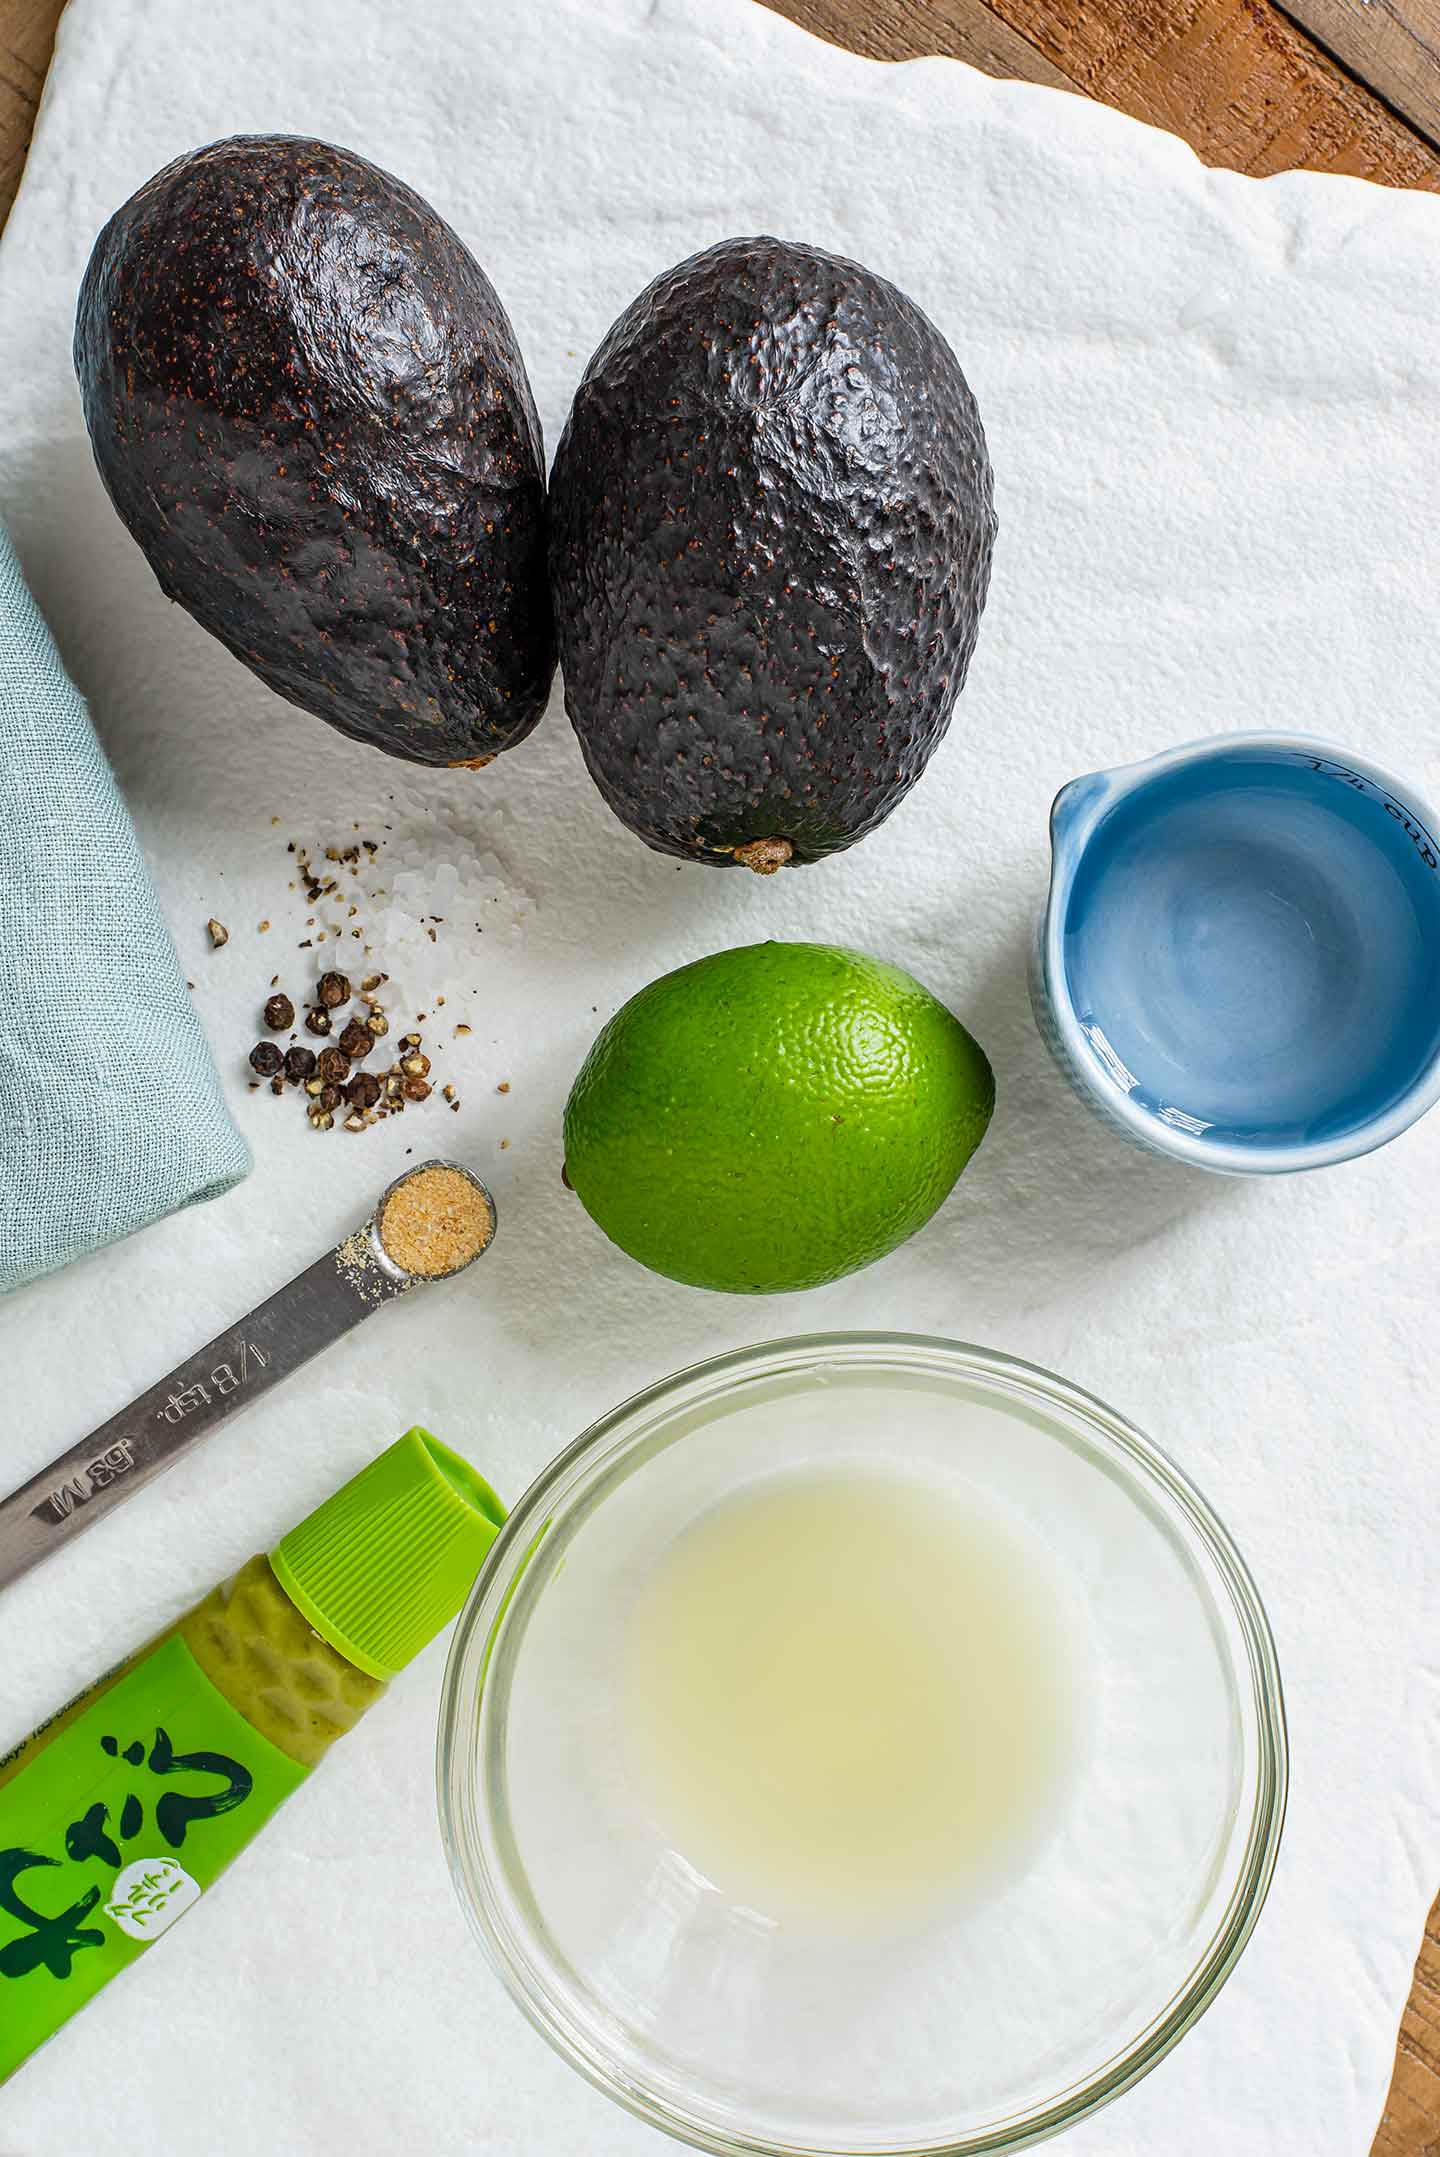
[[[0,528],[0,1292],[248,1169],[129,813]]]

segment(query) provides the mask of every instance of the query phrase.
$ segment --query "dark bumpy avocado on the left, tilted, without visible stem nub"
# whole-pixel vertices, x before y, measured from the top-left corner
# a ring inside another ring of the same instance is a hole
[[[494,285],[351,151],[235,136],[106,224],[75,373],[162,589],[291,703],[414,764],[545,707],[541,427]]]

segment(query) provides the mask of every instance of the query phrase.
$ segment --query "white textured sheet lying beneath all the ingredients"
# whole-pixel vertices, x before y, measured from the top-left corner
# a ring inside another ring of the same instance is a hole
[[[345,142],[451,218],[515,319],[550,449],[619,308],[729,233],[858,255],[936,317],[989,431],[996,578],[951,736],[875,837],[767,882],[677,867],[601,807],[558,697],[483,777],[420,772],[269,697],[162,600],[91,464],[73,298],[106,216],[239,129]],[[278,1286],[410,1148],[474,1158],[502,1234],[463,1283],[375,1318],[6,1594],[0,1739],[414,1419],[515,1495],[692,1357],[845,1324],[981,1339],[1108,1396],[1201,1482],[1259,1575],[1293,1728],[1287,1842],[1237,1976],[1063,2148],[1369,2148],[1440,1877],[1440,1117],[1293,1182],[1147,1160],[1052,1074],[1024,938],[1046,811],[1080,770],[1274,725],[1440,789],[1438,259],[1427,196],[1207,173],[1099,106],[856,60],[748,0],[71,0],[0,246],[0,511],[116,759],[259,1167],[4,1305],[0,1482]],[[285,839],[343,843],[356,822],[388,839],[371,882],[405,921],[446,917],[431,945],[392,912],[390,971],[474,1031],[435,1072],[461,1115],[433,1102],[317,1139],[293,1098],[246,1094],[244,1055],[269,975],[295,990],[315,956],[295,951],[310,908],[285,889]],[[209,915],[231,928],[218,953]],[[612,1251],[560,1189],[558,1117],[619,1001],[767,934],[910,966],[985,1042],[1000,1107],[912,1245],[748,1303]],[[4,2090],[2,2157],[660,2148],[548,2053],[470,1943],[431,1795],[442,1654]]]

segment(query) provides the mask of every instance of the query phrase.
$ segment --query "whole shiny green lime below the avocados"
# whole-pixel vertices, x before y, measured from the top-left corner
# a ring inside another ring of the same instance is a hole
[[[914,1236],[994,1102],[985,1050],[899,966],[746,945],[614,1014],[565,1107],[565,1169],[642,1266],[778,1294]]]

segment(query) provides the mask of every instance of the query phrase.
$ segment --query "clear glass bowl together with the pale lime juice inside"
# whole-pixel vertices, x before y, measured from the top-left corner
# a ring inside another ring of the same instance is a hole
[[[1274,1646],[1209,1506],[1091,1396],[953,1342],[780,1342],[627,1402],[515,1508],[440,1805],[511,1993],[640,2118],[1011,2151],[1240,1956]]]

